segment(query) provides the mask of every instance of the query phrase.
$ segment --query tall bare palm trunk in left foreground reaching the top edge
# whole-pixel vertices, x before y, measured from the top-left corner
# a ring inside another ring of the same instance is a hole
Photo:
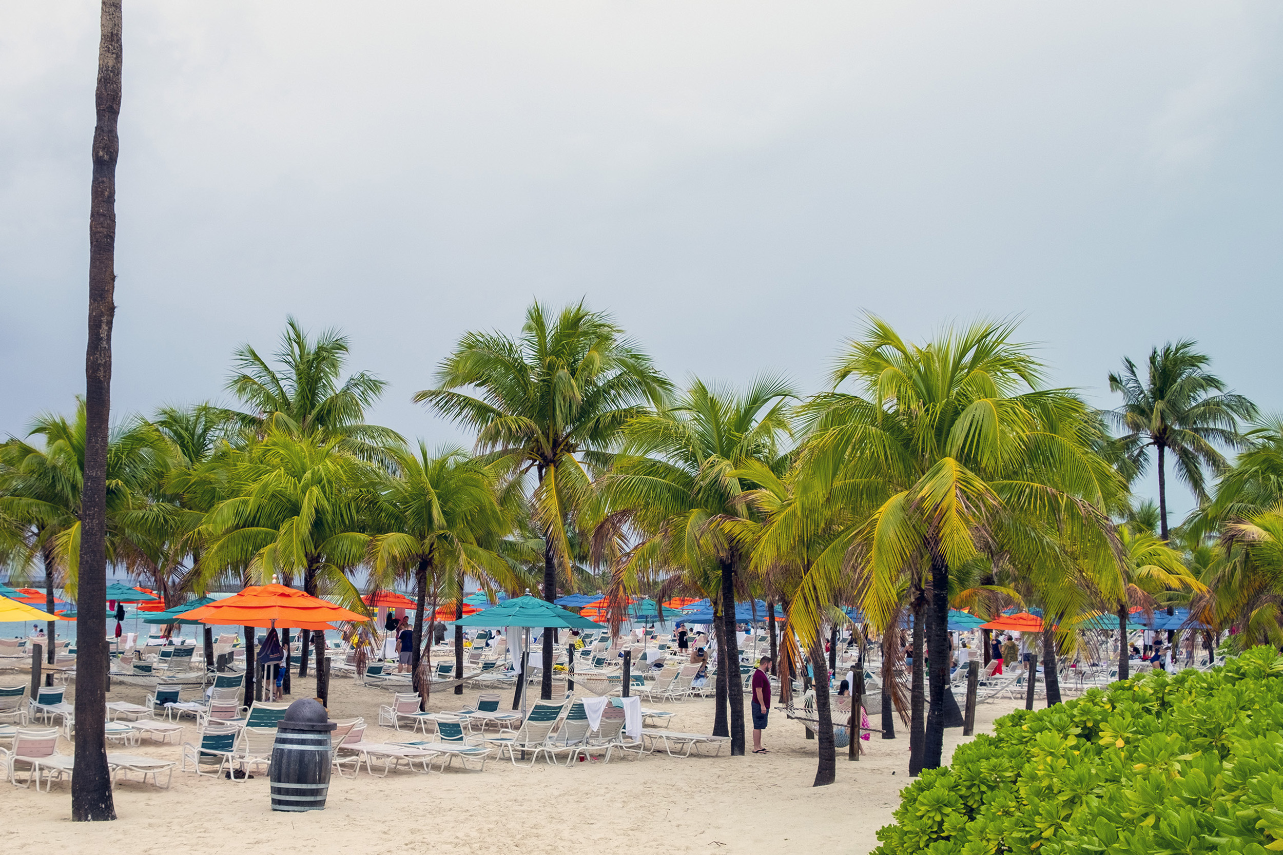
[[[76,673],[76,774],[72,819],[115,819],[106,766],[106,443],[115,320],[115,160],[121,140],[121,0],[103,0],[94,100],[94,178],[89,216],[89,343],[85,348],[85,478],[81,493],[80,666]],[[53,641],[50,638],[50,641]],[[53,644],[50,644],[53,650]]]

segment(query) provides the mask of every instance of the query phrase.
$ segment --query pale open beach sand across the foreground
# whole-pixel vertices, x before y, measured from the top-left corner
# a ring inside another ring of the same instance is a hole
[[[5,682],[0,677],[0,683]],[[310,679],[295,680],[303,697]],[[538,691],[538,689],[536,689]],[[141,702],[145,691],[115,684],[112,701]],[[377,727],[377,707],[390,691],[350,679],[331,683],[332,718],[364,716],[366,739],[408,739]],[[432,695],[430,709],[453,710],[473,701]],[[511,702],[511,689],[507,692]],[[658,705],[657,705],[658,706]],[[671,729],[709,733],[712,700],[662,705],[679,711]],[[747,707],[747,704],[745,704]],[[980,705],[976,730],[1011,711],[1010,701]],[[747,709],[745,709],[747,714]],[[186,719],[190,723],[190,719]],[[876,723],[875,723],[876,725]],[[898,727],[898,724],[897,724]],[[961,741],[946,730],[946,761]],[[171,790],[137,781],[115,788],[114,823],[72,823],[71,784],[51,793],[0,783],[0,852],[824,852],[862,855],[876,846],[878,828],[890,822],[897,793],[910,782],[907,732],[884,741],[874,734],[858,763],[838,757],[838,781],[815,788],[816,742],[803,728],[772,711],[765,745],[770,754],[744,757],[577,763],[572,768],[514,768],[507,759],[484,772],[455,764],[444,775],[394,772],[355,781],[334,775],[326,810],[273,813],[268,781],[216,781],[174,770]],[[186,728],[186,739],[195,727]],[[748,734],[752,747],[752,732]],[[63,742],[60,750],[71,754]],[[178,759],[178,747],[148,739],[133,748]],[[894,773],[894,774],[893,774]],[[163,777],[162,777],[163,779]]]

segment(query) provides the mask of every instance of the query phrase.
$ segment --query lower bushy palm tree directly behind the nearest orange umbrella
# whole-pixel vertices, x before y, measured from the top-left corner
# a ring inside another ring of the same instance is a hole
[[[196,506],[209,503],[200,496],[210,489],[209,481],[219,483],[223,496],[201,525],[208,547],[196,584],[205,587],[222,573],[244,569],[260,584],[273,576],[287,585],[298,579],[307,593],[334,594],[344,607],[364,612],[346,573],[364,560],[371,539],[366,526],[382,474],[343,451],[341,443],[269,431],[244,451],[213,458],[183,484]],[[299,677],[307,675],[309,635],[302,630]],[[313,638],[319,661],[325,632]],[[319,670],[317,683],[325,697]]]

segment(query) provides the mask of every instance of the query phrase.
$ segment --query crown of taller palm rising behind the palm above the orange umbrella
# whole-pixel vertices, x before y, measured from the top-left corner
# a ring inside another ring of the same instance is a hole
[[[384,447],[404,443],[396,431],[364,422],[387,385],[368,371],[358,371],[341,384],[349,352],[348,336],[325,330],[308,338],[294,317],[286,318],[277,367],[249,344],[235,354],[236,374],[227,383],[249,412],[230,416],[245,430],[262,435],[272,429],[322,442],[341,440],[353,453],[378,457]]]

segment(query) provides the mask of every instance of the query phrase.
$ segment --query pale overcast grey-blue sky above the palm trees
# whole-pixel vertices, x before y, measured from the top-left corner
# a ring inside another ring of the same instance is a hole
[[[230,401],[294,315],[466,442],[440,358],[581,298],[679,381],[1014,317],[1096,406],[1191,338],[1283,410],[1277,3],[124,5],[117,417]],[[0,0],[0,435],[85,385],[98,26]]]

